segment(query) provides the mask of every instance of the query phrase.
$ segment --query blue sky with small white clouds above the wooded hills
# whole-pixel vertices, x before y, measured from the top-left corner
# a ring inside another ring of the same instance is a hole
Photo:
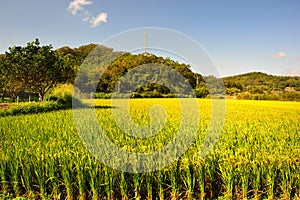
[[[299,0],[2,0],[0,25],[0,53],[35,38],[78,47],[162,27],[201,44],[221,76],[300,75]]]

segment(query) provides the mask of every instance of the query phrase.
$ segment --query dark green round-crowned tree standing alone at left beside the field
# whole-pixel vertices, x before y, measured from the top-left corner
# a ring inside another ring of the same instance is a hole
[[[18,80],[32,92],[39,94],[39,100],[59,83],[69,79],[70,65],[52,50],[52,45],[40,46],[36,39],[26,47],[11,47],[6,52],[9,68],[15,70]],[[11,69],[8,69],[11,70]]]

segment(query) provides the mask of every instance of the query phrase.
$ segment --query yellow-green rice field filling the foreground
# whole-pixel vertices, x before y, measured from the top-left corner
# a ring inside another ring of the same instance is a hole
[[[171,165],[127,173],[100,163],[83,145],[72,110],[0,118],[0,199],[300,199],[300,103],[227,101],[221,136],[199,156],[211,101],[197,100],[199,128]],[[165,108],[166,123],[148,139],[117,126],[110,100],[96,100],[107,137],[128,152],[158,150],[180,123],[176,99],[130,100],[132,120],[149,123],[149,108]]]

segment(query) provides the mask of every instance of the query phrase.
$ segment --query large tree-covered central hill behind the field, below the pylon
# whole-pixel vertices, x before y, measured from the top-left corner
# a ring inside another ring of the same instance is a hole
[[[131,69],[142,66],[146,64],[150,64],[151,66],[169,66],[172,69],[175,69],[177,72],[179,72],[181,75],[183,75],[186,80],[189,82],[192,88],[197,89],[197,96],[198,97],[205,97],[208,94],[208,91],[206,89],[203,77],[200,74],[194,73],[191,71],[191,67],[189,65],[179,63],[177,61],[174,61],[170,58],[163,58],[160,56],[156,56],[154,54],[150,53],[142,53],[142,54],[131,54],[128,52],[115,52],[113,49],[104,47],[104,46],[98,46],[95,48],[96,45],[90,44],[86,46],[81,46],[79,48],[72,49],[70,47],[62,47],[58,50],[59,55],[61,55],[65,60],[69,60],[70,63],[74,66],[74,71],[77,71],[80,64],[85,62],[86,64],[90,64],[91,66],[97,66],[97,68],[103,68],[101,71],[104,71],[102,76],[99,80],[97,80],[98,83],[94,83],[92,81],[86,81],[85,78],[88,76],[92,76],[94,69],[86,70],[84,73],[87,73],[87,75],[82,76],[82,81],[80,81],[80,88],[84,90],[86,93],[90,93],[92,91],[88,91],[89,87],[91,85],[97,84],[96,92],[97,93],[105,93],[110,94],[115,90],[116,85],[119,85],[119,90],[122,91],[122,87],[125,84],[122,84],[120,81],[121,76],[123,76],[125,73],[129,72]],[[95,48],[95,49],[94,49]],[[94,50],[93,50],[94,49]],[[92,51],[93,50],[93,51]],[[91,54],[89,54],[92,51]],[[86,56],[89,55],[89,57],[86,59]],[[144,80],[146,82],[159,82],[161,80],[155,80],[158,78],[158,76],[152,76],[151,74],[155,72],[150,71],[145,72],[149,74],[150,76],[146,76],[147,80]],[[165,73],[164,77],[170,77],[170,72],[164,71],[160,73]],[[149,79],[149,77],[152,77],[152,79]],[[178,81],[178,80],[177,80]],[[176,81],[174,81],[176,83]],[[77,80],[78,83],[78,80]],[[131,83],[126,83],[128,86]],[[134,82],[132,83],[134,84]],[[201,91],[199,88],[201,87]],[[181,87],[175,88],[176,91],[180,91],[182,89]],[[203,92],[202,92],[203,91]],[[185,93],[184,91],[182,91]],[[140,88],[137,88],[134,91],[134,96],[136,97],[164,97],[164,96],[174,96],[171,95],[171,91],[158,84],[145,84]]]

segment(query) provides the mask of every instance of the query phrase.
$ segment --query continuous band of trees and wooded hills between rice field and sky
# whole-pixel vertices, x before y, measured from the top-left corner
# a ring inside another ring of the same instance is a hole
[[[0,95],[14,100],[24,92],[36,93],[42,101],[45,94],[61,83],[76,84],[85,93],[111,94],[122,92],[125,84],[121,77],[133,68],[141,65],[163,65],[180,73],[194,89],[197,97],[220,94],[241,99],[267,99],[278,96],[286,100],[300,100],[300,77],[272,76],[260,72],[225,77],[221,80],[213,76],[204,77],[191,70],[191,66],[170,58],[163,58],[150,53],[134,55],[128,52],[114,51],[101,45],[89,44],[78,48],[68,46],[54,50],[52,45],[41,46],[38,39],[26,46],[13,46],[0,55]],[[80,66],[88,66],[80,70]],[[151,67],[151,66],[149,66]],[[140,79],[147,80],[151,70]],[[161,71],[172,80],[170,72]],[[127,85],[137,81],[137,77],[127,80]],[[158,76],[152,76],[148,83],[131,91],[138,97],[162,97],[172,95],[170,88],[159,85]],[[155,80],[156,79],[156,80]],[[176,82],[176,80],[173,80]],[[180,91],[182,85],[177,85]],[[209,89],[210,88],[210,89]],[[289,99],[289,95],[292,98]],[[272,98],[271,98],[272,99]],[[281,98],[282,99],[282,98]],[[283,99],[283,100],[285,100]]]

